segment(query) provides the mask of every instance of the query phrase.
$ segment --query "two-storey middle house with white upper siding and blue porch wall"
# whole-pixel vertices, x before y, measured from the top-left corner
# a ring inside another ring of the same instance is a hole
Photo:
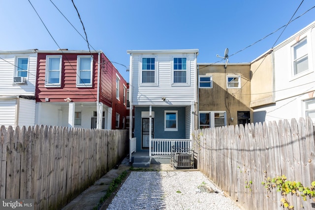
[[[198,50],[127,53],[130,54],[129,123],[134,124],[134,130],[131,126],[129,129],[130,138],[132,133],[136,138],[137,151],[149,150],[152,139],[191,139]]]

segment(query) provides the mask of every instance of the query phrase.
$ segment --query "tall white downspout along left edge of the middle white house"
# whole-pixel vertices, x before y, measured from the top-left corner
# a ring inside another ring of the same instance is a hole
[[[130,66],[129,66],[129,162],[131,162],[131,139],[132,139],[132,125],[133,125],[133,116],[132,116],[132,54],[130,54]]]

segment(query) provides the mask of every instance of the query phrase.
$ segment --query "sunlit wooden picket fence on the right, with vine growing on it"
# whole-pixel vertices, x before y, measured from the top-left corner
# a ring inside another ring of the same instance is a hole
[[[247,210],[283,209],[282,195],[262,185],[266,177],[311,186],[315,181],[315,136],[310,118],[195,130],[198,169]],[[313,209],[313,199],[286,199],[295,209]]]

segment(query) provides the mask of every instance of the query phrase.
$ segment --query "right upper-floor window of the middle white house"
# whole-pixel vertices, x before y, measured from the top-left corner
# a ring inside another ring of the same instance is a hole
[[[174,84],[187,83],[187,58],[173,60]]]

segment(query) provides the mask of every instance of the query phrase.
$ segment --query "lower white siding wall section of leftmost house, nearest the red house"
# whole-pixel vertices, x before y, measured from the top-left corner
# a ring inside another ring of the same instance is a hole
[[[35,100],[20,98],[19,99],[19,126],[35,125]]]

